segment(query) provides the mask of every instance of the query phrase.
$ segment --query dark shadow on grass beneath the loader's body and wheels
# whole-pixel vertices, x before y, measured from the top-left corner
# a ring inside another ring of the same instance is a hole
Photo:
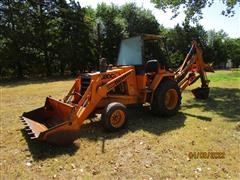
[[[102,121],[95,121],[84,124],[79,131],[79,138],[87,138],[93,141],[107,140],[121,137],[128,132],[143,130],[152,134],[161,135],[162,133],[175,130],[184,126],[186,116],[179,112],[175,116],[160,118],[154,116],[149,107],[138,107],[128,109],[128,122],[126,128],[109,133],[103,128]]]

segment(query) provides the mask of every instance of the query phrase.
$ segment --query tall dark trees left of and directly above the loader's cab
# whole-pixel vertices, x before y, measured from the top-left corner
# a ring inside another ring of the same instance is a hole
[[[100,57],[114,64],[123,37],[159,31],[135,4],[93,10],[74,0],[3,0],[0,8],[1,77],[75,75],[96,69]]]

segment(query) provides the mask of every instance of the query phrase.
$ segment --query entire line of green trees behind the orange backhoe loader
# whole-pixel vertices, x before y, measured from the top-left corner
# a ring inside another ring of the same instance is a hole
[[[97,69],[100,57],[115,64],[121,39],[142,33],[163,36],[160,62],[173,68],[183,61],[193,39],[206,62],[219,65],[231,59],[234,67],[240,65],[240,38],[190,24],[186,19],[165,28],[151,11],[134,3],[102,3],[92,9],[74,0],[1,0],[0,79],[76,75]]]

